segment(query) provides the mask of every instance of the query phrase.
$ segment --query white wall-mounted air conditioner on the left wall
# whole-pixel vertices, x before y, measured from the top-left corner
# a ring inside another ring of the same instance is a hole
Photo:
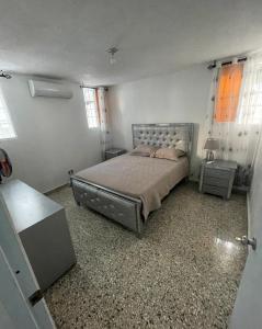
[[[30,92],[32,98],[60,98],[71,99],[72,91],[66,84],[47,81],[29,80]]]

